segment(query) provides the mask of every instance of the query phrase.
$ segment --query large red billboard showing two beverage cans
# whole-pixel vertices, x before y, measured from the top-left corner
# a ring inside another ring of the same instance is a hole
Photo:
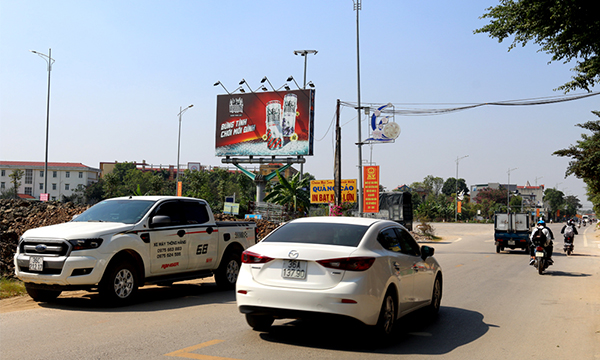
[[[218,95],[215,155],[313,155],[314,101],[314,89]]]

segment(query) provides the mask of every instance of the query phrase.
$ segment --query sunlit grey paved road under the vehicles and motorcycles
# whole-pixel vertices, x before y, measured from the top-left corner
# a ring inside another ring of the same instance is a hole
[[[3,300],[0,359],[600,359],[600,231],[581,228],[573,256],[555,246],[540,276],[522,251],[495,253],[491,225],[434,227],[439,319],[404,319],[388,346],[333,323],[280,320],[254,332],[234,293],[203,281],[144,288],[118,309],[95,295],[18,311]]]

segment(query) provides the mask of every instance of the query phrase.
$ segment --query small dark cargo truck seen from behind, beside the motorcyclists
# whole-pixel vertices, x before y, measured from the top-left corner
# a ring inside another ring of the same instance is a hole
[[[531,234],[530,215],[527,213],[494,214],[494,240],[496,252],[506,248],[523,249],[529,252],[529,235]]]

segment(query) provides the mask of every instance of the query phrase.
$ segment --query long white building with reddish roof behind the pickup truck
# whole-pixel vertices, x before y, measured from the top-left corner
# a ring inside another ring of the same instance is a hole
[[[23,177],[17,193],[23,198],[40,199],[44,192],[44,162],[36,161],[0,161],[0,192],[13,187],[10,174],[22,170]],[[100,169],[81,163],[49,162],[47,192],[50,200],[62,200],[70,196],[79,185],[88,186],[98,181]]]

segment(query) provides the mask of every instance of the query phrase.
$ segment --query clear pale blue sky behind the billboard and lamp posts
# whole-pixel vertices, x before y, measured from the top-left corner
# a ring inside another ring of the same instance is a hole
[[[497,1],[369,1],[360,12],[363,103],[401,108],[561,95],[575,64],[551,63],[535,44],[508,52],[473,30]],[[43,161],[47,70],[29,50],[56,60],[51,73],[49,161],[177,160],[221,165],[214,156],[216,96],[244,78],[256,89],[293,75],[315,49],[307,80],[316,85],[315,155],[304,171],[333,178],[336,100],[357,101],[356,12],[335,1],[0,1],[0,159]],[[291,84],[293,85],[293,84]],[[598,91],[593,89],[593,91]],[[576,92],[576,93],[583,93]],[[596,120],[600,97],[541,106],[484,106],[436,116],[396,116],[394,144],[363,147],[381,166],[388,189],[427,175],[469,185],[529,181],[576,195],[589,208],[584,183],[564,178],[568,159],[552,152],[580,139],[575,124]],[[362,116],[363,138],[367,117]],[[356,111],[343,108],[342,176],[357,178]]]

